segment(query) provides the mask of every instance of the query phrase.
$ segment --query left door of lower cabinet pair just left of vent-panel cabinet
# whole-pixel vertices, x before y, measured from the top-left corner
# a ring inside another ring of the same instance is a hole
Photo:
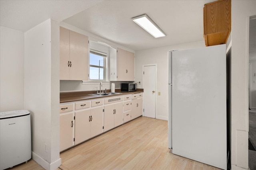
[[[75,145],[90,138],[90,110],[75,113]]]

